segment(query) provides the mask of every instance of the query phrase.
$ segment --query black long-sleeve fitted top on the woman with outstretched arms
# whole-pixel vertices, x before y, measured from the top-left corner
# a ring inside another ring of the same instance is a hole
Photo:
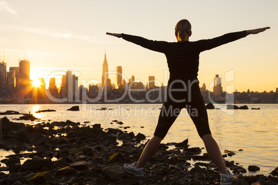
[[[152,41],[138,36],[122,34],[122,39],[149,50],[163,52],[167,58],[170,79],[195,79],[198,75],[199,55],[202,51],[246,37],[247,32],[231,32],[213,39],[199,41]]]

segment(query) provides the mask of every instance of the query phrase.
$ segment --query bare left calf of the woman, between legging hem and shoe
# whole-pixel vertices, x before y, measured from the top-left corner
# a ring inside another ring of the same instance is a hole
[[[145,164],[153,157],[153,155],[156,153],[156,150],[158,150],[158,146],[162,139],[159,137],[154,137],[149,140],[148,144],[145,146],[142,154],[140,155],[140,158],[137,162],[136,168],[143,168]]]

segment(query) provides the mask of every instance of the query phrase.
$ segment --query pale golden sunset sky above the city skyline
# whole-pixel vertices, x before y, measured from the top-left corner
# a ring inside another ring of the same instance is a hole
[[[0,53],[8,68],[19,59],[30,60],[30,77],[46,83],[56,77],[59,86],[67,70],[88,86],[101,82],[104,53],[109,71],[122,66],[147,83],[167,84],[164,54],[106,35],[138,35],[152,40],[176,41],[174,27],[180,19],[192,24],[189,41],[211,39],[228,32],[270,26],[258,35],[202,52],[198,79],[210,88],[215,75],[222,86],[237,91],[278,88],[278,1],[36,1],[0,0]],[[109,75],[115,83],[115,75]],[[227,88],[228,89],[228,88]],[[212,90],[212,89],[209,89]]]

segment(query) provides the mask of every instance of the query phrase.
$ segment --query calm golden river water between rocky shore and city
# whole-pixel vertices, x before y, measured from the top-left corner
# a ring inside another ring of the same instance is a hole
[[[121,128],[127,132],[143,133],[149,139],[156,128],[160,107],[162,104],[24,104],[0,105],[0,112],[15,110],[19,113],[33,113],[39,121],[19,121],[26,124],[37,124],[41,121],[76,121],[86,125],[101,124],[102,128]],[[80,111],[67,111],[71,106],[80,106]],[[268,175],[278,166],[278,104],[248,104],[249,110],[227,110],[225,105],[220,109],[207,110],[210,129],[221,152],[232,150],[236,153],[226,157],[228,161],[239,163],[247,170],[249,165],[259,166],[257,173],[248,172],[246,175]],[[242,106],[241,104],[237,106]],[[106,110],[99,110],[106,108]],[[260,108],[260,110],[251,110]],[[56,112],[35,113],[41,109],[55,109]],[[7,115],[10,121],[17,121],[21,115]],[[3,116],[2,116],[3,117]],[[12,120],[13,119],[13,120]],[[124,124],[111,124],[113,120]],[[169,133],[163,140],[167,142],[183,142],[189,139],[190,147],[203,148],[203,142],[196,128],[184,109],[176,119]],[[239,151],[242,149],[242,151]],[[203,150],[205,152],[205,150]],[[0,150],[0,159],[12,151]],[[4,164],[2,164],[3,166]]]

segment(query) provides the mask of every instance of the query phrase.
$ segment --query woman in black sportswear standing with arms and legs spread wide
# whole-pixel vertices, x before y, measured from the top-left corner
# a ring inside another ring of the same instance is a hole
[[[154,153],[156,153],[160,142],[176,120],[176,117],[178,117],[180,110],[187,108],[187,112],[189,113],[189,108],[191,108],[196,111],[194,111],[195,114],[189,115],[192,121],[194,121],[198,135],[203,139],[210,159],[216,164],[221,173],[221,184],[230,184],[230,182],[236,179],[236,177],[227,171],[219,146],[210,132],[205,102],[203,101],[198,86],[199,55],[205,50],[216,48],[250,34],[263,32],[266,29],[269,29],[269,27],[232,32],[214,39],[189,41],[189,37],[192,35],[191,24],[187,19],[182,19],[176,24],[175,35],[177,42],[173,43],[167,41],[151,41],[133,35],[106,32],[106,35],[131,41],[149,50],[163,52],[167,57],[170,73],[167,86],[167,99],[160,110],[154,136],[148,142],[147,146],[145,146],[138,162],[124,164],[124,170],[127,173],[132,173],[138,177],[143,175],[143,167]]]

